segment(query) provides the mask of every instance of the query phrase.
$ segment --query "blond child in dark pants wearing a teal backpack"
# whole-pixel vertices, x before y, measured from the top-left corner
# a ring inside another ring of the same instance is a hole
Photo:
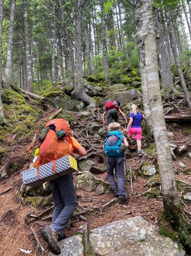
[[[120,124],[109,124],[109,133],[104,143],[104,153],[107,155],[107,174],[112,192],[115,196],[119,196],[119,203],[123,204],[127,201],[127,193],[124,190],[124,152],[128,147],[128,142],[120,131],[120,128]],[[117,184],[113,173],[114,168],[117,176]]]

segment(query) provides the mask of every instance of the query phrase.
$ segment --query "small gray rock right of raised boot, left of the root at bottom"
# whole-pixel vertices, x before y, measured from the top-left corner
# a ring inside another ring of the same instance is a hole
[[[66,238],[58,244],[61,249],[60,256],[83,256],[83,243],[79,235]],[[48,256],[55,256],[55,254],[49,253]]]

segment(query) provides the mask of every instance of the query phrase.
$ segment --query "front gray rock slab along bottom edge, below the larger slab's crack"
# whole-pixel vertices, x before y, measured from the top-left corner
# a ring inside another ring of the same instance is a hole
[[[124,247],[109,256],[184,256],[185,251],[168,237],[148,239],[135,245]]]

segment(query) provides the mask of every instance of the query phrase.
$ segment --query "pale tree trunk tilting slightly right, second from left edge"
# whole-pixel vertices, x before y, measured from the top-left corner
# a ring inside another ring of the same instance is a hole
[[[9,35],[8,35],[8,46],[7,46],[7,60],[5,66],[5,77],[3,87],[10,87],[11,78],[11,53],[13,47],[13,31],[14,31],[14,21],[15,21],[15,0],[11,0],[11,14],[9,22]]]

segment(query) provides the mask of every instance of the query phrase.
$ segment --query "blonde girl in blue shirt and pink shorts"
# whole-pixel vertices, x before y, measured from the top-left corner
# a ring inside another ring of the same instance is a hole
[[[145,119],[144,115],[137,111],[137,106],[133,104],[131,106],[131,114],[130,120],[127,125],[127,135],[128,139],[131,141],[132,145],[136,145],[135,141],[132,138],[132,135],[135,135],[135,139],[137,140],[137,148],[138,148],[138,156],[142,157],[141,151],[141,138],[142,138],[142,127],[141,122],[142,119]]]

